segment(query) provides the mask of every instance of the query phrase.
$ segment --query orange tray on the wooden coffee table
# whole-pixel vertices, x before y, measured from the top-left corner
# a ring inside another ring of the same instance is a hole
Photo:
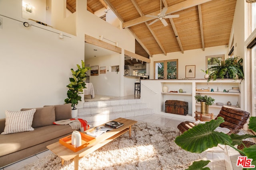
[[[81,133],[81,138],[82,138],[82,145],[80,147],[75,147],[75,145],[72,145],[71,143],[71,136],[68,135],[64,138],[59,139],[59,143],[67,147],[68,149],[72,150],[73,152],[77,152],[78,150],[84,149],[87,147],[90,143],[93,143],[96,138],[92,137],[90,135],[86,135],[85,133]]]

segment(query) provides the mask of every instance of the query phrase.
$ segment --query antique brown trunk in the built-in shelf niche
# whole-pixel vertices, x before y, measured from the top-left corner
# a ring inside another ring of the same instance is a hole
[[[178,115],[188,114],[188,102],[179,100],[166,100],[165,101],[165,113],[173,113]]]

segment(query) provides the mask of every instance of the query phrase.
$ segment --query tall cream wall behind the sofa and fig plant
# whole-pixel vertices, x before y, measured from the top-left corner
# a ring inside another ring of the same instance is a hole
[[[86,1],[77,3],[77,36],[64,33],[71,38],[60,39],[59,30],[38,23],[34,25],[44,29],[23,26],[22,22],[28,20],[22,18],[22,0],[0,0],[0,37],[4,40],[0,41],[0,118],[5,117],[5,110],[63,104],[70,68],[76,69],[76,64],[84,60],[85,33],[93,37],[108,35],[120,47],[134,51],[135,41],[127,30],[112,29],[112,25],[86,11]],[[122,86],[120,79],[112,81]]]

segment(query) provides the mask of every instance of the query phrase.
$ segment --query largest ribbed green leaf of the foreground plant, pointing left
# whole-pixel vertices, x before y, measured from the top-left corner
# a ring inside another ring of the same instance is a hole
[[[216,147],[218,144],[231,144],[229,135],[214,131],[223,122],[223,117],[218,117],[216,120],[199,124],[176,137],[175,143],[184,150],[196,153]]]

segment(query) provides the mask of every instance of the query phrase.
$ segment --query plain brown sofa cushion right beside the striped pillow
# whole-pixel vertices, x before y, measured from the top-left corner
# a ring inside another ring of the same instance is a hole
[[[23,108],[20,110],[24,111],[24,110],[29,110],[29,109]],[[55,121],[54,106],[39,107],[39,108],[36,108],[36,113],[34,114],[32,127],[41,127],[41,126],[52,125],[54,121]]]

